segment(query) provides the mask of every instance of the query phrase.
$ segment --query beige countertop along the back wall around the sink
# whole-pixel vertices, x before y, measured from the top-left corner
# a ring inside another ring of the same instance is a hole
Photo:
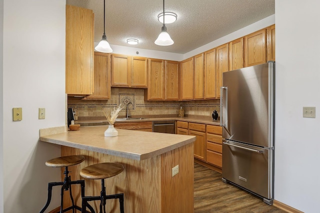
[[[139,119],[143,118],[143,119]],[[117,122],[146,122],[146,121],[164,121],[164,120],[174,120],[174,121],[186,121],[186,122],[194,122],[201,124],[210,124],[210,125],[220,125],[220,120],[213,120],[209,116],[186,116],[186,117],[152,117],[152,116],[136,116],[136,119],[132,120],[118,120]],[[96,125],[108,125],[107,121],[103,117],[89,117],[85,119],[82,117],[81,120],[74,121],[75,124],[80,124],[81,126],[96,126]]]

